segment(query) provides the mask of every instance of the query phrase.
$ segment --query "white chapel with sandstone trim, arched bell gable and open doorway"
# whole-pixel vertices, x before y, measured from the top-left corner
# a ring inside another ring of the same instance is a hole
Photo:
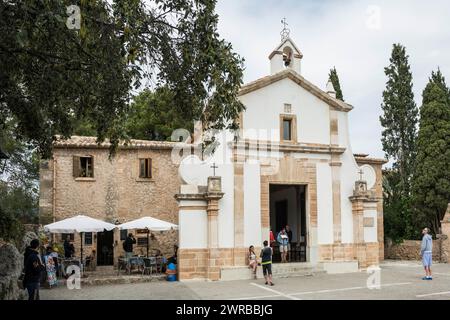
[[[249,246],[259,250],[286,225],[290,263],[339,273],[383,259],[384,160],[353,154],[353,106],[331,82],[321,89],[305,79],[302,58],[284,37],[270,74],[240,90],[239,132],[218,134],[208,159],[182,160],[180,280],[245,279]]]

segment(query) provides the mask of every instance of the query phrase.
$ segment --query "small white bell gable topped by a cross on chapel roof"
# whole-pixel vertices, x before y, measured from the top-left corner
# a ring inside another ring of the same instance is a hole
[[[281,20],[283,30],[281,31],[281,43],[269,56],[270,74],[275,74],[287,68],[301,74],[301,60],[303,54],[289,37],[290,30],[287,28],[286,18]]]

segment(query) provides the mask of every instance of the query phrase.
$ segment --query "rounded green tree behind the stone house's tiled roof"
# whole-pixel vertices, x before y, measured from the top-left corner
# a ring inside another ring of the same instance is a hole
[[[130,106],[127,135],[133,139],[168,140],[175,129],[192,132],[193,123],[179,113],[173,96],[167,87],[137,95]]]

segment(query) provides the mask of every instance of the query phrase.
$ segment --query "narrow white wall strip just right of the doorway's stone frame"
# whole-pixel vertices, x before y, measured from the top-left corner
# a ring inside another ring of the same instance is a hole
[[[317,164],[317,229],[318,243],[333,243],[333,190],[331,167]]]

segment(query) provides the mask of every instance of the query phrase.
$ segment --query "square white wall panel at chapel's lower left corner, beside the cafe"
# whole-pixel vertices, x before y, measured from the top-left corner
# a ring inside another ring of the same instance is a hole
[[[178,215],[178,236],[181,249],[202,249],[208,247],[206,210],[180,210]]]

